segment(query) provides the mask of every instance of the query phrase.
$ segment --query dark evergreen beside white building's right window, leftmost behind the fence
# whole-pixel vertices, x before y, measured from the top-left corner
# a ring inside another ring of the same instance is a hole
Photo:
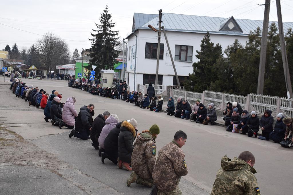
[[[218,80],[218,70],[214,68],[214,65],[219,58],[223,57],[223,53],[221,45],[214,46],[211,42],[209,33],[203,38],[200,51],[196,50],[196,52],[195,56],[199,61],[193,63],[193,73],[189,74],[189,79],[184,82],[184,85],[186,90],[202,92]]]

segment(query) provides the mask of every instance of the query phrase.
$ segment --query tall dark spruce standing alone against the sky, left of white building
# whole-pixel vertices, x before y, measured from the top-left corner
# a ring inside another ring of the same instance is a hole
[[[90,62],[92,65],[97,66],[97,73],[101,69],[113,68],[114,64],[117,63],[115,58],[118,57],[118,51],[115,49],[119,43],[119,31],[112,30],[115,27],[115,23],[111,19],[112,16],[109,13],[108,6],[104,9],[100,17],[100,24],[96,24],[98,30],[94,30],[91,33],[91,54],[92,59]]]

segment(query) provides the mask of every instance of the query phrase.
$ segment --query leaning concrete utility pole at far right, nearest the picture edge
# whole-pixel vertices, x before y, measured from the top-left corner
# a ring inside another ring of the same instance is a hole
[[[283,20],[282,20],[282,12],[281,12],[280,0],[276,0],[276,4],[277,4],[279,36],[280,36],[280,45],[281,45],[281,52],[282,52],[284,76],[285,76],[286,89],[287,89],[287,97],[292,98],[293,97],[292,96],[292,85],[291,85],[289,66],[288,66],[288,59],[287,59],[287,53],[286,53],[286,45],[285,45],[285,39],[284,39],[284,29],[283,29]]]

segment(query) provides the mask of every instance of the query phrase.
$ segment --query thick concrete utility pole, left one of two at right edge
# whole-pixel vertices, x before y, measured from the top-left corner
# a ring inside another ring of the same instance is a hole
[[[261,46],[260,46],[260,61],[259,61],[259,70],[258,70],[257,94],[263,94],[263,86],[265,82],[265,58],[267,53],[270,3],[271,3],[270,0],[265,0],[265,14],[263,17],[263,35],[261,37]]]

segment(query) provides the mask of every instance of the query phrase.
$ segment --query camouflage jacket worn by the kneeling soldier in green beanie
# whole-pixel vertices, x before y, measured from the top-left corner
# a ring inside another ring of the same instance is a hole
[[[149,131],[137,136],[131,156],[132,170],[142,179],[152,180],[156,162],[156,144]]]

